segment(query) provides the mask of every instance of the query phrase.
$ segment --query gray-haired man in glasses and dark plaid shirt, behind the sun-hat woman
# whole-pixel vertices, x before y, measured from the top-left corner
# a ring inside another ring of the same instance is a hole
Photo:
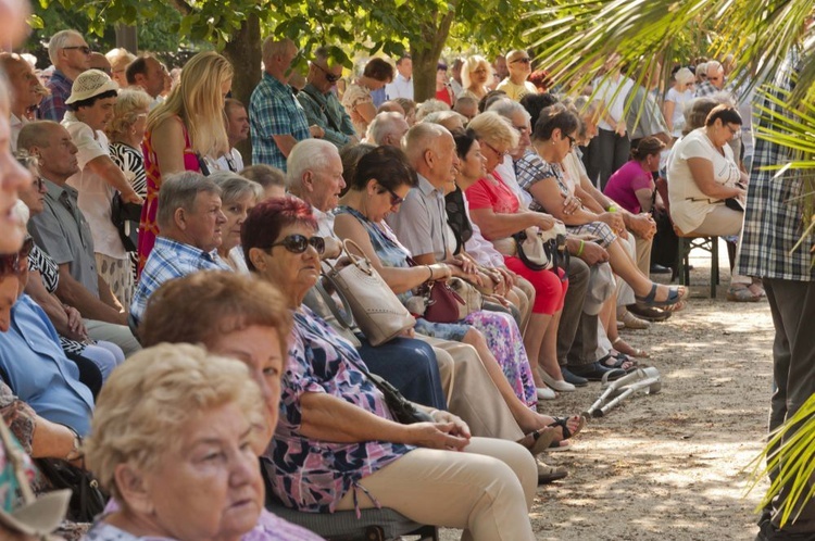
[[[48,42],[48,56],[54,66],[48,89],[51,91],[39,104],[37,117],[62,122],[65,116],[65,100],[71,96],[74,79],[90,70],[90,47],[76,30],[61,30]]]

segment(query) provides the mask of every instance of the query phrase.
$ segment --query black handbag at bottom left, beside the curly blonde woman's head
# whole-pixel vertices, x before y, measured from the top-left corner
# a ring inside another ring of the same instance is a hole
[[[68,520],[92,523],[104,511],[109,496],[99,487],[93,474],[60,458],[37,458],[35,463],[54,490],[71,490]]]

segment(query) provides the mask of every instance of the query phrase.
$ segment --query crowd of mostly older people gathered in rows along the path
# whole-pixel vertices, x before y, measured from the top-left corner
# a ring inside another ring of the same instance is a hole
[[[741,127],[735,109],[709,108],[685,123],[699,129],[668,141],[662,198],[657,137],[640,140],[603,193],[578,147],[613,118],[602,100],[538,92],[526,51],[502,59],[503,81],[471,56],[453,63],[457,95],[442,63],[440,99],[376,103],[394,78],[388,61],[368,60],[340,96],[342,68],[317,49],[294,97],[297,47],[268,38],[244,106],[227,98],[234,71],[216,52],[192,56],[162,97],[151,56],[113,55],[129,85],[118,89],[84,65],[82,35],[50,47],[60,71],[43,112],[58,122],[12,134],[21,105],[0,92],[2,203],[17,207],[2,217],[14,235],[0,236],[0,407],[32,456],[86,454],[80,467],[112,496],[91,540],[318,539],[267,501],[388,507],[472,539],[534,539],[536,487],[567,475],[546,453],[586,425],[555,415],[559,393],[648,355],[618,319],[645,328],[635,314],[665,318],[687,303],[688,288],[649,276],[645,213],[670,206],[686,232],[739,232],[737,211],[718,204],[743,199],[727,144]],[[18,72],[15,92],[29,75]],[[672,98],[687,78],[678,73]],[[236,146],[248,135],[243,167]],[[140,207],[130,253],[114,197]],[[554,231],[570,257],[535,266],[524,239]],[[324,262],[344,262],[346,240],[415,317],[384,344],[340,320],[339,292],[317,287]],[[434,320],[425,286],[439,280],[481,301]],[[750,278],[732,282],[736,300],[761,294]],[[372,374],[425,420],[399,423]]]

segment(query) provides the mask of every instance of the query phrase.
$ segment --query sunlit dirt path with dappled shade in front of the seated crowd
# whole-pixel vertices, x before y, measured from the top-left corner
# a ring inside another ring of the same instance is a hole
[[[760,491],[742,498],[741,468],[765,433],[769,307],[725,300],[726,263],[718,298],[709,299],[710,260],[691,263],[693,292],[684,313],[649,330],[623,331],[628,343],[651,353],[647,362],[660,369],[661,393],[629,399],[592,419],[573,451],[547,456],[570,474],[538,489],[531,512],[537,539],[754,539]],[[590,383],[547,402],[546,411],[581,412],[599,393],[600,383]],[[457,532],[446,530],[442,539],[457,539]]]

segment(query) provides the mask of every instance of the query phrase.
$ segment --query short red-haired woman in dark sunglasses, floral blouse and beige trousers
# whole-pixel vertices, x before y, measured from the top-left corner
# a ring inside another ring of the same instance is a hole
[[[300,511],[385,506],[422,524],[462,528],[473,539],[534,539],[529,452],[471,438],[447,412],[430,412],[428,423],[394,422],[353,345],[302,305],[319,278],[324,242],[316,230],[306,203],[271,199],[252,210],[241,237],[247,265],[284,292],[294,318],[267,453],[275,495]]]

